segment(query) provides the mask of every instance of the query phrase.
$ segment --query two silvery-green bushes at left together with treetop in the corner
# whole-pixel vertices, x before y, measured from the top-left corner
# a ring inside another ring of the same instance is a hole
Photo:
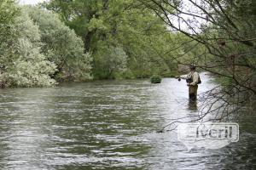
[[[0,48],[3,88],[53,86],[62,79],[88,80],[90,54],[84,43],[55,14],[0,3]]]

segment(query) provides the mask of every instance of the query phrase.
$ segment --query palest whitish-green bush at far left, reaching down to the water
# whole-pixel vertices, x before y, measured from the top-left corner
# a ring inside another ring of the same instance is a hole
[[[10,30],[17,32],[11,39],[11,45],[5,49],[1,74],[2,87],[43,87],[52,86],[55,80],[50,76],[55,72],[55,65],[40,54],[40,34],[38,26],[25,12],[16,17]]]

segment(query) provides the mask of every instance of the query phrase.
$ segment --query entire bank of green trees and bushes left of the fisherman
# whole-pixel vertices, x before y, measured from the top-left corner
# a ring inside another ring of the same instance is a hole
[[[3,88],[177,71],[168,53],[177,34],[134,1],[52,0],[32,7],[2,0],[0,7]]]

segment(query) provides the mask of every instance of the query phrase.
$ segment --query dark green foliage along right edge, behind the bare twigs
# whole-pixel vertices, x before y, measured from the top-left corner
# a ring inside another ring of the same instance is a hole
[[[255,45],[256,45],[256,3],[253,0],[223,1],[224,13],[216,17],[223,29],[208,26],[212,41],[212,57],[206,66],[223,77],[218,80],[225,87],[246,88],[256,94],[255,89]],[[229,20],[227,20],[227,18]],[[216,57],[218,56],[218,57]]]

